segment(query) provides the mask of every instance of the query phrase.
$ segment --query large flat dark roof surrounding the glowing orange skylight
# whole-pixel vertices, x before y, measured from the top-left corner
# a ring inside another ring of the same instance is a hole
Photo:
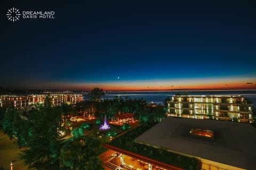
[[[190,135],[191,128],[213,130],[214,139]],[[240,168],[256,167],[256,129],[249,123],[167,117],[135,141]]]

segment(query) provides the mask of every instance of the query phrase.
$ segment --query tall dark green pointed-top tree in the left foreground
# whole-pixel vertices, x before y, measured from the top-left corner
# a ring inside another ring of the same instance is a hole
[[[61,148],[61,109],[51,107],[49,100],[43,108],[29,113],[31,123],[27,137],[27,148],[21,158],[29,167],[36,169],[58,169]]]

